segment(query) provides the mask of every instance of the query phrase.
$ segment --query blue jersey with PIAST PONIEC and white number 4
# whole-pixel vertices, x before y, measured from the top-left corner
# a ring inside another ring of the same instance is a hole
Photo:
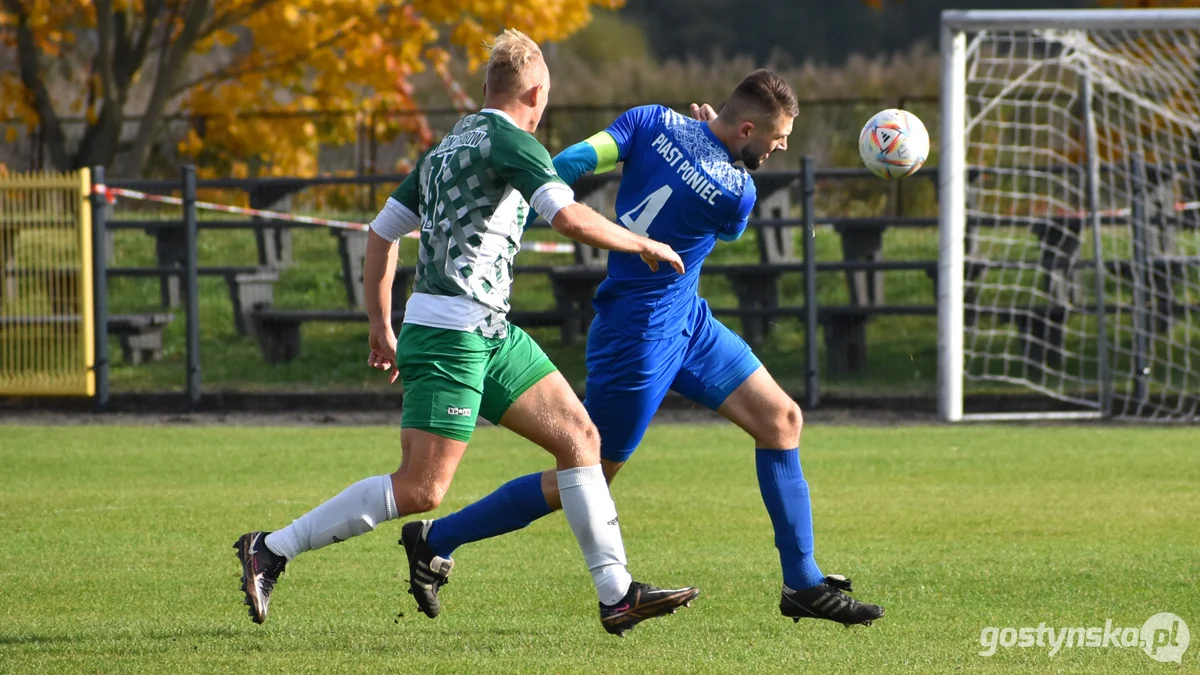
[[[686,273],[667,264],[650,271],[638,256],[611,252],[593,304],[608,325],[634,338],[686,334],[700,306],[701,265],[718,238],[737,239],[745,229],[754,180],[733,166],[707,123],[662,106],[634,108],[606,132],[616,141],[613,159],[624,162],[617,222],[670,245]]]

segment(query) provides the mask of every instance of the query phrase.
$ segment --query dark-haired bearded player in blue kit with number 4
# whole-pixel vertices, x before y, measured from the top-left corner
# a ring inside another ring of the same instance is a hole
[[[662,106],[634,108],[554,157],[569,185],[623,162],[618,222],[668,244],[686,268],[684,275],[650,271],[637,256],[608,256],[608,275],[593,303],[584,400],[600,432],[605,476],[611,482],[634,454],[667,390],[716,411],[755,440],[758,486],[782,566],[780,611],[796,621],[870,625],[883,608],[847,596],[850,580],[826,577],[814,558],[799,406],[697,294],[701,264],[716,240],[738,239],[746,228],[755,186],[745,169],[787,149],[796,94],[778,74],[760,70],[733,90],[719,115],[707,106],[692,112],[698,119]],[[745,168],[734,166],[738,161]],[[511,480],[438,520],[406,524],[401,543],[410,568],[446,571],[432,584],[410,584],[418,607],[425,611],[437,603],[457,546],[520,530],[558,508],[548,471]]]

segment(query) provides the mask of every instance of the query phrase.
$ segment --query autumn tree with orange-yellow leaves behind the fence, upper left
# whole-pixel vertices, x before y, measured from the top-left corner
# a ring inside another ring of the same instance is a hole
[[[56,168],[136,175],[168,115],[221,118],[221,138],[193,129],[181,149],[217,147],[233,174],[312,173],[313,124],[242,113],[412,108],[414,73],[478,66],[503,28],[562,40],[620,2],[0,0],[0,123],[37,129]]]

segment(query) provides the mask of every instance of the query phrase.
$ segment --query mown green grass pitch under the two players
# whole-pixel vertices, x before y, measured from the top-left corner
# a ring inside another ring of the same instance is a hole
[[[614,485],[631,571],[691,609],[600,628],[560,515],[463,548],[444,614],[404,593],[400,522],[307,554],[265,626],[230,544],[389,472],[389,428],[5,426],[0,671],[1178,673],[1140,649],[1000,649],[985,627],[1200,632],[1200,431],[1108,426],[805,431],[818,561],[887,607],[869,628],[779,616],[752,449],[725,425],[652,429]],[[484,429],[442,512],[547,465]],[[403,616],[401,616],[401,614]]]

